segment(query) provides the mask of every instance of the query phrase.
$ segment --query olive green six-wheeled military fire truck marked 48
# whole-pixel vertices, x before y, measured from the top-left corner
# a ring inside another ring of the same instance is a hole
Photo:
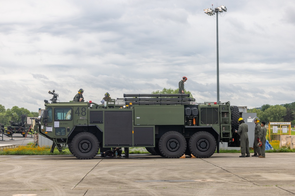
[[[99,148],[146,147],[166,158],[209,158],[219,142],[232,142],[239,109],[230,102],[194,103],[189,94],[124,94],[104,104],[45,101],[34,129],[78,159]]]

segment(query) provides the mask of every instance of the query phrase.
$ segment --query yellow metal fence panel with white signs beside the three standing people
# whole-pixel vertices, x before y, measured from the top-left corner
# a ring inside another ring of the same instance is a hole
[[[291,135],[291,122],[269,122],[268,136],[270,140],[281,140],[281,135]]]

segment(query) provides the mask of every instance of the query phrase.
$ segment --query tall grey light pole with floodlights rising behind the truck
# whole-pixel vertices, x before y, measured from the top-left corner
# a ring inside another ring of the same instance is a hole
[[[213,8],[213,4],[212,4]],[[218,46],[218,14],[226,12],[227,8],[225,6],[219,6],[214,10],[211,8],[204,9],[205,13],[209,16],[213,16],[216,13],[216,46],[217,46],[217,103],[219,103],[219,46]]]

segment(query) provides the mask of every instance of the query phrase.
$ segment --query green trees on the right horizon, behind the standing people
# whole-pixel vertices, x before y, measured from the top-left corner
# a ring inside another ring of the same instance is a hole
[[[291,122],[295,124],[295,102],[284,105],[264,104],[260,108],[248,109],[248,113],[257,113],[261,121],[268,122]]]

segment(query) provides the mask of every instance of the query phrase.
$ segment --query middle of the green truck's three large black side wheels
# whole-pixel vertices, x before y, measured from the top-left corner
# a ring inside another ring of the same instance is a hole
[[[159,140],[159,150],[164,157],[179,158],[186,151],[186,139],[176,131],[164,133]]]

